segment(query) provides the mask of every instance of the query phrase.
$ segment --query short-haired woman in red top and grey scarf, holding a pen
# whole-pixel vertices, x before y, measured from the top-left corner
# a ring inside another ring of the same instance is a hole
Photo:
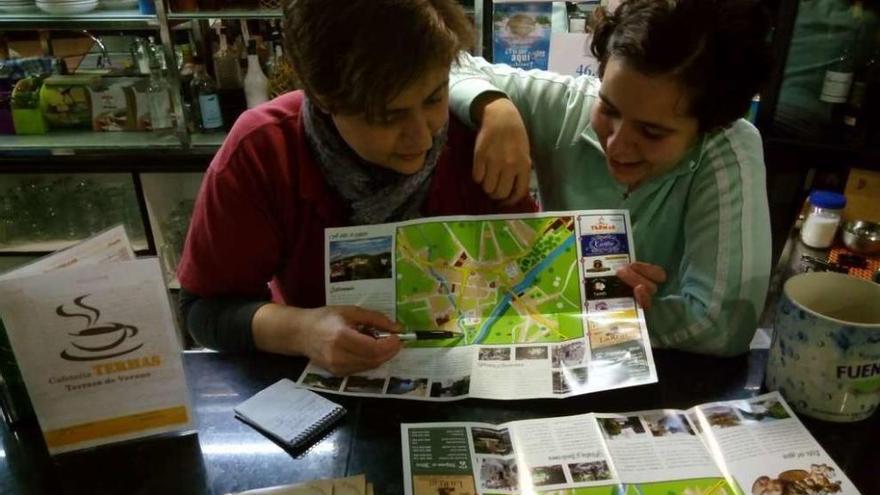
[[[400,341],[355,330],[395,331],[380,313],[325,306],[325,228],[535,205],[517,201],[523,171],[472,179],[474,135],[447,101],[449,68],[473,40],[454,0],[291,0],[284,29],[304,90],[242,114],[211,162],[181,307],[207,347],[305,355],[346,375]]]

